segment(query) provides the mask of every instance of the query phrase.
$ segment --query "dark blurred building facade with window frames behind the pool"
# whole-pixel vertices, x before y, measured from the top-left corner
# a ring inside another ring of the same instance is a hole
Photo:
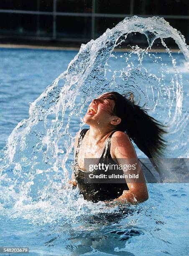
[[[189,0],[0,0],[0,39],[5,44],[80,46],[133,15],[164,17],[189,44]],[[125,43],[147,41],[136,34]],[[176,47],[173,40],[169,43]]]

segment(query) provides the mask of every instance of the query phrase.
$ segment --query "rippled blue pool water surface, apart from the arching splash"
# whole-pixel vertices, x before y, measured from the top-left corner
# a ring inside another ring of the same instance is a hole
[[[41,95],[76,54],[77,51],[0,49],[0,149],[15,125],[28,118],[29,102]],[[184,57],[173,56],[182,75],[184,95],[188,95],[189,75]],[[158,57],[165,62],[167,55],[157,53]],[[111,69],[121,66],[121,62],[122,59],[112,59]],[[149,72],[158,73],[158,65],[146,60]],[[166,69],[171,70],[169,63]],[[162,104],[166,109],[166,101]],[[184,97],[183,112],[187,109]],[[71,131],[75,134],[78,130],[75,122]],[[138,156],[143,156],[136,150]],[[172,157],[187,157],[186,146],[180,148],[180,155],[178,151],[173,154]],[[69,169],[69,175],[71,172]],[[16,191],[6,201],[3,191],[9,193],[11,188],[1,187],[0,246],[29,247],[30,255],[188,255],[189,184],[147,185],[148,201],[114,207],[103,202],[84,202],[77,189],[68,188],[69,192],[64,198],[57,198],[57,203],[33,199],[31,204],[23,202],[19,208]],[[56,201],[56,196],[53,199]]]

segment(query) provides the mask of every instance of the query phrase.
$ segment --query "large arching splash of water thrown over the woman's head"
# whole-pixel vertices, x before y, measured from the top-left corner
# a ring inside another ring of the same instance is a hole
[[[129,53],[113,53],[132,32],[146,35],[148,48],[132,46]],[[189,47],[184,36],[159,17],[125,18],[95,41],[82,44],[67,70],[31,103],[29,118],[18,123],[1,151],[2,212],[11,218],[22,216],[37,223],[61,218],[73,222],[84,212],[107,212],[103,203],[94,209],[92,203],[85,202],[67,185],[74,136],[83,126],[81,116],[92,97],[102,92],[133,92],[135,100],[149,114],[169,125],[166,156],[171,156],[173,151],[175,157],[181,156],[180,151],[186,152],[188,112],[182,105],[185,97],[182,76],[163,41],[168,37],[175,40],[188,63]],[[167,51],[165,59],[148,51],[157,38]],[[117,58],[123,66],[112,70],[111,61]],[[153,69],[146,67],[146,59],[151,60]],[[154,73],[157,64],[161,64],[161,70]]]

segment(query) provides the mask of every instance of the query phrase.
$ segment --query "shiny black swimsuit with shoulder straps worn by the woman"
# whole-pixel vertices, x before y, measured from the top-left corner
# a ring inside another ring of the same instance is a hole
[[[80,194],[83,195],[84,199],[87,201],[92,201],[92,202],[98,202],[98,201],[105,201],[105,200],[113,200],[117,197],[120,197],[123,194],[124,190],[129,190],[128,185],[124,179],[124,182],[122,181],[121,183],[86,183],[85,177],[87,173],[90,173],[90,171],[84,171],[79,168],[78,162],[77,162],[77,157],[79,153],[79,147],[82,144],[82,140],[86,134],[86,132],[89,129],[83,129],[79,135],[79,140],[78,140],[78,145],[77,145],[77,150],[76,150],[76,157],[75,157],[75,162],[74,162],[74,174],[76,177],[77,185],[80,190]],[[102,152],[102,156],[100,157],[99,163],[102,163],[108,159],[111,160],[111,163],[115,163],[115,161],[112,159],[111,154],[110,154],[110,140],[112,137],[112,134],[115,131],[113,131],[110,136],[107,138],[107,141],[105,143],[105,148]],[[120,174],[123,174],[123,170],[117,170]],[[117,174],[116,171],[116,174]],[[97,174],[98,171],[95,170],[93,171],[93,174]],[[112,174],[112,171],[106,172],[106,174]]]

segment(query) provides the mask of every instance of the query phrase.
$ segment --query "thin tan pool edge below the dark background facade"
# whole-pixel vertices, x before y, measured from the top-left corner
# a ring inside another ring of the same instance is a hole
[[[43,50],[53,50],[53,51],[79,51],[79,47],[60,47],[60,46],[36,46],[36,45],[26,45],[26,44],[0,44],[0,48],[10,48],[10,49],[43,49]],[[116,48],[114,51],[131,51],[131,48]],[[178,53],[179,49],[170,49],[171,52]],[[148,49],[150,52],[166,52],[165,49]]]

